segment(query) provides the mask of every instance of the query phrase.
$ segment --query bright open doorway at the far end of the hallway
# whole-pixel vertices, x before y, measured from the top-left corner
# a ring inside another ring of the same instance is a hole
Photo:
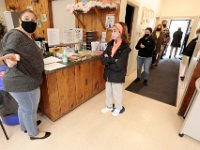
[[[171,42],[173,40],[173,34],[174,32],[176,32],[178,30],[178,28],[180,27],[181,28],[181,31],[183,32],[182,34],[182,38],[181,38],[181,46],[180,48],[178,49],[178,52],[177,52],[177,55],[181,55],[182,51],[183,51],[183,43],[184,43],[184,39],[185,39],[185,36],[186,34],[188,33],[189,31],[189,28],[190,28],[190,24],[191,24],[191,20],[190,19],[172,19],[170,21],[170,26],[169,26],[169,30],[170,30],[170,37],[171,37],[171,40],[170,40],[170,44],[169,44],[169,47],[168,47],[168,50],[167,50],[167,54],[170,53],[170,49],[171,49]],[[173,54],[172,54],[173,55]]]

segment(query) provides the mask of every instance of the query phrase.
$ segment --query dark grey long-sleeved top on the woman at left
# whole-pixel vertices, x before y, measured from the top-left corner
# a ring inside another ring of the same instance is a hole
[[[12,29],[2,39],[3,55],[16,53],[20,61],[8,68],[3,77],[4,90],[25,92],[38,88],[42,83],[44,62],[41,49],[25,33]]]

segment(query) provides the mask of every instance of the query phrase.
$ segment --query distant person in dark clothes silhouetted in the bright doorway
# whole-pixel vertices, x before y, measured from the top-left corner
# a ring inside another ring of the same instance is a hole
[[[171,43],[171,50],[170,50],[169,58],[171,58],[174,48],[175,48],[174,57],[176,57],[177,50],[181,46],[182,35],[183,35],[183,32],[181,31],[181,27],[179,27],[178,30],[176,32],[174,32],[174,34],[173,34],[173,40]]]

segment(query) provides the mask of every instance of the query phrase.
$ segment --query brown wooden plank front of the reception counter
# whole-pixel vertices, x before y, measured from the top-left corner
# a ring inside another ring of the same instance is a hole
[[[41,86],[40,110],[52,121],[72,111],[105,88],[99,57],[47,72]]]

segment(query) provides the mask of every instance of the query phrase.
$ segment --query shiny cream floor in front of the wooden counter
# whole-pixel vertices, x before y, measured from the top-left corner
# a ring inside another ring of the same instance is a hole
[[[124,88],[136,77],[126,78]],[[179,85],[180,86],[180,85]],[[74,111],[51,122],[39,114],[40,129],[52,132],[45,140],[31,141],[19,126],[6,127],[10,140],[0,133],[3,150],[199,150],[200,142],[178,136],[183,119],[177,107],[124,90],[124,114],[102,114],[105,91]]]

